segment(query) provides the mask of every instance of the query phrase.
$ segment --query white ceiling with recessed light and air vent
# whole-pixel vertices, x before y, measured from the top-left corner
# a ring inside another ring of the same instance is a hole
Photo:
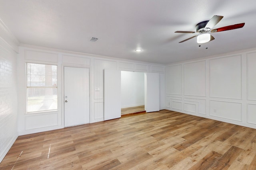
[[[196,38],[178,43],[194,34],[175,31],[196,31],[214,15],[224,16],[214,28],[245,25],[201,47]],[[23,44],[150,63],[256,47],[255,0],[0,0],[0,18]]]

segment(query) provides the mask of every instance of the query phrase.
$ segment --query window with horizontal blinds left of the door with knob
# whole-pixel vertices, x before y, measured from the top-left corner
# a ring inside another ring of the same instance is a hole
[[[26,63],[27,113],[58,109],[57,66]]]

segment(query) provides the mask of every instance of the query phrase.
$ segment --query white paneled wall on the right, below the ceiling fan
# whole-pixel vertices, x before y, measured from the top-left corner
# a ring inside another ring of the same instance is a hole
[[[256,128],[256,49],[166,67],[166,108]]]

